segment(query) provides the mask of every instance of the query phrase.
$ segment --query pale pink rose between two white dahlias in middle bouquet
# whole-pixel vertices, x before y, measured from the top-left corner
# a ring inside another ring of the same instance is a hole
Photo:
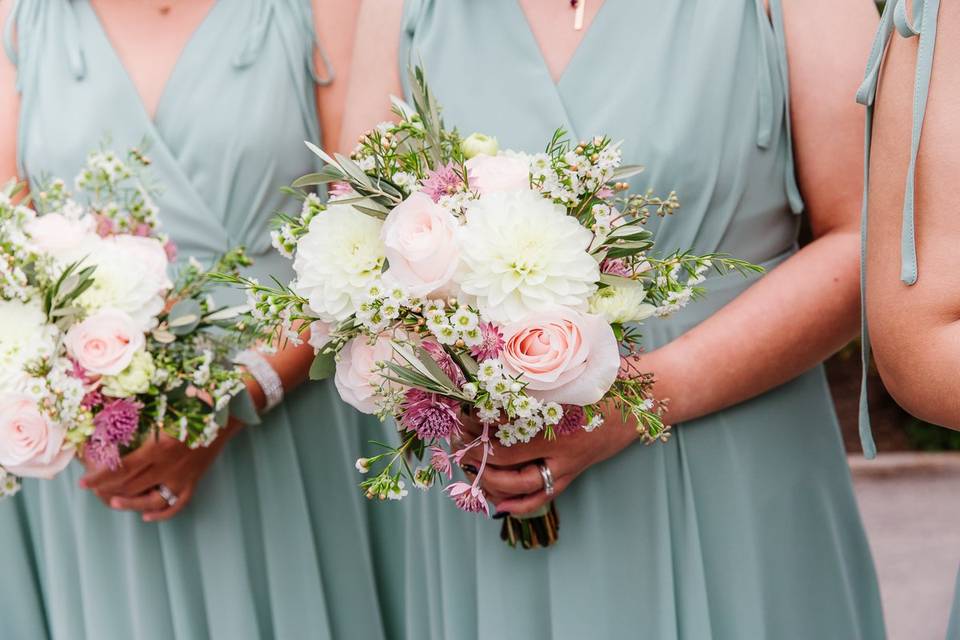
[[[424,193],[401,202],[380,232],[390,276],[414,296],[442,291],[460,262],[456,229],[453,214]]]

